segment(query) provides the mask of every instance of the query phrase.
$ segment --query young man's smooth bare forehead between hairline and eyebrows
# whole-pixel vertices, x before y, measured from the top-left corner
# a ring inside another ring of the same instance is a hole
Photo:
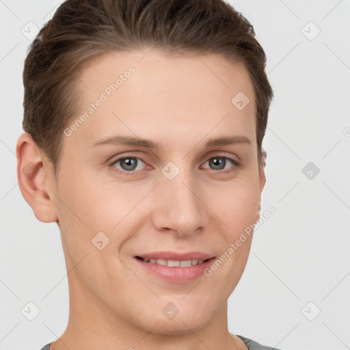
[[[114,131],[157,142],[165,134],[204,137],[220,130],[254,142],[252,81],[243,64],[222,55],[111,52],[90,60],[79,81],[80,112],[88,120],[77,134],[86,142]]]

